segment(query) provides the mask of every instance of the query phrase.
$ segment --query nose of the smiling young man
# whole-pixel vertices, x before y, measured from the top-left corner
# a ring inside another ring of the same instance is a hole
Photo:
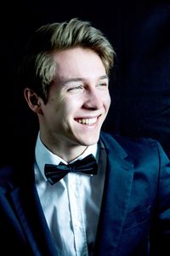
[[[94,110],[102,108],[102,93],[97,87],[91,88],[86,92],[86,101],[83,107]]]

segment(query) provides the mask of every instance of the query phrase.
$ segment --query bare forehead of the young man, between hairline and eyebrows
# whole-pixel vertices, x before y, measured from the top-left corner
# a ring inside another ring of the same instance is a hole
[[[92,49],[81,47],[64,49],[54,54],[57,63],[57,76],[88,78],[105,75],[105,66]]]

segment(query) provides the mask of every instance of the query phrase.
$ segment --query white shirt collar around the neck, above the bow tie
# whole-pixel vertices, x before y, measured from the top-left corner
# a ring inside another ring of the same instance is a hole
[[[81,155],[79,155],[75,160],[82,160],[88,154],[93,154],[95,159],[98,161],[99,160],[98,148],[99,147],[98,147],[97,143],[94,145],[88,146],[88,148]],[[36,158],[36,163],[37,163],[38,169],[40,170],[40,172],[42,173],[42,176],[45,179],[46,179],[46,177],[44,175],[45,164],[59,165],[59,162],[63,162],[65,164],[67,164],[67,162],[65,162],[65,160],[60,158],[59,155],[53,154],[51,151],[48,150],[48,148],[45,147],[45,145],[41,141],[40,133],[38,133],[38,136],[37,136],[35,158]]]

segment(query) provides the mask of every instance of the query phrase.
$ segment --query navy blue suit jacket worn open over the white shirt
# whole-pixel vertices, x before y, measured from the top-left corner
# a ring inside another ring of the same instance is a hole
[[[152,139],[101,132],[100,140],[107,166],[95,255],[169,256],[167,155]],[[0,169],[1,255],[58,256],[37,195],[34,157],[25,156],[20,164]]]

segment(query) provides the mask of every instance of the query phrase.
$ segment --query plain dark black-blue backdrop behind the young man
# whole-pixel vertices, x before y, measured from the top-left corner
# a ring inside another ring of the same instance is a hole
[[[153,137],[170,156],[170,1],[54,1],[1,3],[0,162],[31,140],[37,119],[15,80],[31,33],[48,22],[89,20],[116,50],[111,72],[112,106],[103,130]]]

